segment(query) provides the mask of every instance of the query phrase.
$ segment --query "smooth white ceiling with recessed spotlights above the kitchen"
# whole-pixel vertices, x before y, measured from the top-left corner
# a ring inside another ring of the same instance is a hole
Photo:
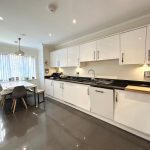
[[[0,42],[14,44],[26,34],[24,46],[57,44],[150,13],[150,0],[53,1],[55,13],[48,11],[52,0],[0,0]]]

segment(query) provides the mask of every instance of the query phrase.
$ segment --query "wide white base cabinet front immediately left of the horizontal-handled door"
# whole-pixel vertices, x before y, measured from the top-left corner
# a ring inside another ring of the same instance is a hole
[[[90,111],[89,86],[63,82],[63,100]]]

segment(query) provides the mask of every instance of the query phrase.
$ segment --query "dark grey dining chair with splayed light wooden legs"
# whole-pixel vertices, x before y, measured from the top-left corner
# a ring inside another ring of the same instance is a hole
[[[12,109],[13,109],[13,113],[16,110],[16,104],[17,104],[18,100],[22,100],[25,108],[27,109],[27,104],[25,102],[25,98],[27,99],[27,91],[26,91],[25,87],[24,86],[16,86],[13,89],[13,92],[12,92],[12,99],[13,99]]]

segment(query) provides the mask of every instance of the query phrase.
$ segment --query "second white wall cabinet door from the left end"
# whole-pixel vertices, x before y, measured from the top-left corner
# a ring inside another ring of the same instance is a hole
[[[67,67],[67,48],[59,50],[60,67]]]

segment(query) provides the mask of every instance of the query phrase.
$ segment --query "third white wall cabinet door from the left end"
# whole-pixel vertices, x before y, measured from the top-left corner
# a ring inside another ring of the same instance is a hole
[[[68,48],[68,66],[79,66],[79,46]]]

